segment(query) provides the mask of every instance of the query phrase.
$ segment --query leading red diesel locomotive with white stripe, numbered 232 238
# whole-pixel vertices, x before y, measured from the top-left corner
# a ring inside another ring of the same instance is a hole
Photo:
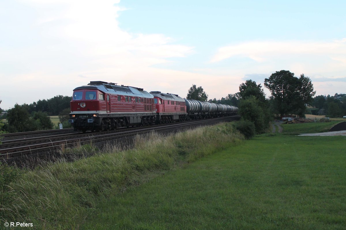
[[[156,123],[154,97],[141,88],[91,81],[73,90],[69,122],[75,130],[111,130]]]

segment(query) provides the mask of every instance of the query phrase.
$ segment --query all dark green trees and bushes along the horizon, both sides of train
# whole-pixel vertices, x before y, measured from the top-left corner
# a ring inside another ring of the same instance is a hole
[[[316,91],[313,90],[310,78],[304,74],[295,77],[294,73],[287,70],[276,71],[264,79],[264,86],[271,92],[268,98],[262,85],[249,79],[239,85],[239,92],[230,93],[218,100],[208,100],[208,94],[203,88],[193,84],[186,98],[238,107],[242,121],[237,124],[237,128],[242,130],[246,137],[263,133],[275,117],[304,117],[306,113],[317,114],[320,109],[324,109],[330,117],[342,117],[346,114],[346,94],[336,93],[334,96],[320,95],[313,98]],[[16,132],[51,129],[53,124],[46,117],[59,114],[60,122],[67,122],[70,101],[71,97],[58,95],[31,104],[16,104],[8,110],[8,123],[0,122],[0,130]],[[316,109],[307,109],[307,105]]]

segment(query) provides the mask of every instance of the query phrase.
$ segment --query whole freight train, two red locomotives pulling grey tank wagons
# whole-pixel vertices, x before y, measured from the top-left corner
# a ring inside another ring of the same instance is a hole
[[[177,94],[91,81],[73,90],[69,123],[85,132],[163,124],[237,114],[225,104],[183,99]]]

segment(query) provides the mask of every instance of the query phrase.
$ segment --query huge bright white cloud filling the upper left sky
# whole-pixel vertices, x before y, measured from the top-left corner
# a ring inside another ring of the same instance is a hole
[[[8,14],[0,14],[0,21],[9,22],[2,28],[0,78],[11,81],[1,90],[3,107],[69,95],[89,80],[140,86],[143,79],[155,81],[148,71],[151,66],[193,52],[193,47],[176,44],[163,34],[121,29],[118,13],[126,9],[117,3],[119,0],[7,2]],[[14,87],[20,94],[5,98],[13,94]]]

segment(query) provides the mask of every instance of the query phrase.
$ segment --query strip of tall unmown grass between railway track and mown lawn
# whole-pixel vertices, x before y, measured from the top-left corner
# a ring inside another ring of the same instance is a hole
[[[86,156],[90,151],[94,156],[37,167],[12,182],[15,200],[0,219],[34,223],[35,228],[78,229],[85,218],[97,213],[95,204],[105,197],[243,140],[230,123],[223,123],[166,137],[136,136],[128,150],[110,144],[103,151],[80,147]]]

